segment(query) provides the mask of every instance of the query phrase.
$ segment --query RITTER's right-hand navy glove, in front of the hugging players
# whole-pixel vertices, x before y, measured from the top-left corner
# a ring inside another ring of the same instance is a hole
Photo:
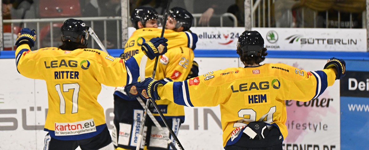
[[[154,59],[159,55],[163,55],[166,53],[168,44],[166,44],[168,40],[166,38],[152,38],[150,41],[146,41],[141,46],[141,50],[145,53],[145,55],[150,58]]]

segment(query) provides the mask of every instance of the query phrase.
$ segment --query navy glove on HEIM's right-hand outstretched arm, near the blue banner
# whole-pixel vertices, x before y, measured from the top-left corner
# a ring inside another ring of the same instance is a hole
[[[324,69],[327,68],[335,68],[337,75],[336,75],[336,80],[337,79],[341,79],[346,75],[346,62],[343,59],[338,59],[338,58],[330,58],[327,61],[327,64],[325,64]]]

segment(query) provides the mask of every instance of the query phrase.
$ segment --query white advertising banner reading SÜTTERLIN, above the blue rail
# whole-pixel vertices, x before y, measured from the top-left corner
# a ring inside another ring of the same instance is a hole
[[[128,28],[131,35],[135,28]],[[268,50],[366,52],[366,29],[252,28]],[[191,27],[197,50],[235,50],[243,27]]]

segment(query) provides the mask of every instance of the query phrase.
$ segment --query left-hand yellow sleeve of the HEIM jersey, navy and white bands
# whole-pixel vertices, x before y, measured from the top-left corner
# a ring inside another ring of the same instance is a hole
[[[187,107],[217,106],[226,98],[223,95],[221,76],[218,72],[208,72],[182,82],[168,82],[158,87],[161,99],[168,99],[178,105]],[[228,84],[228,83],[225,83]]]

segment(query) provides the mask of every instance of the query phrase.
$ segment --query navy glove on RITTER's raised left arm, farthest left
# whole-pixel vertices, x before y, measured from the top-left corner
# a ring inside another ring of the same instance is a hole
[[[30,45],[30,48],[35,46],[36,41],[36,31],[30,30],[29,28],[23,28],[17,35],[17,41],[15,42],[15,45],[17,47],[21,44],[28,44]]]

